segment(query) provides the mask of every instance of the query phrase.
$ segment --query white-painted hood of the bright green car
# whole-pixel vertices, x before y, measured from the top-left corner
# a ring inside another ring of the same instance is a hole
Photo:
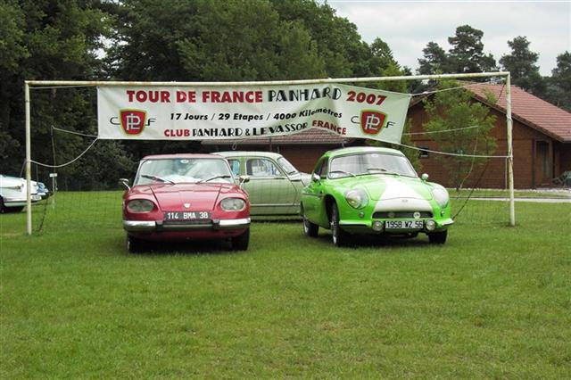
[[[398,198],[431,200],[430,186],[418,178],[399,177],[393,175],[374,175],[352,178],[351,188],[363,188],[375,201]]]

